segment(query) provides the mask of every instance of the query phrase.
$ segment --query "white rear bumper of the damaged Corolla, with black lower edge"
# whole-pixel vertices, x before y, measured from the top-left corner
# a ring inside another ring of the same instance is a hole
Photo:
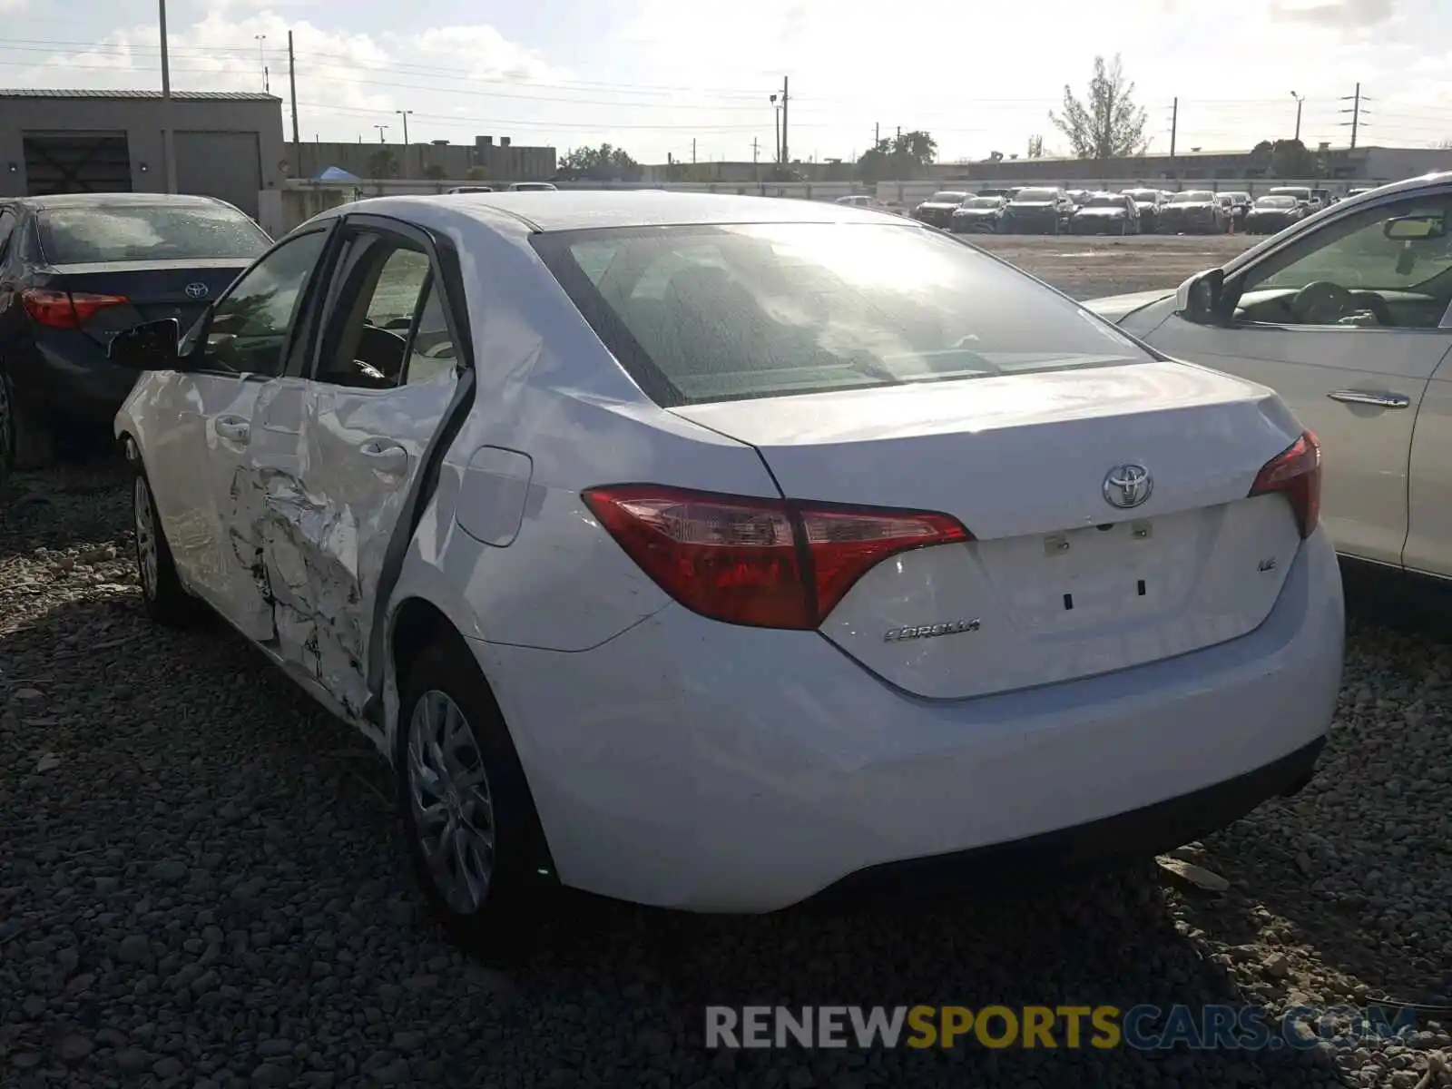
[[[816,633],[678,605],[576,653],[472,646],[565,884],[765,912],[1000,855],[1022,873],[1041,836],[1114,858],[1228,823],[1314,761],[1343,639],[1321,531],[1250,635],[976,700],[915,698]]]

